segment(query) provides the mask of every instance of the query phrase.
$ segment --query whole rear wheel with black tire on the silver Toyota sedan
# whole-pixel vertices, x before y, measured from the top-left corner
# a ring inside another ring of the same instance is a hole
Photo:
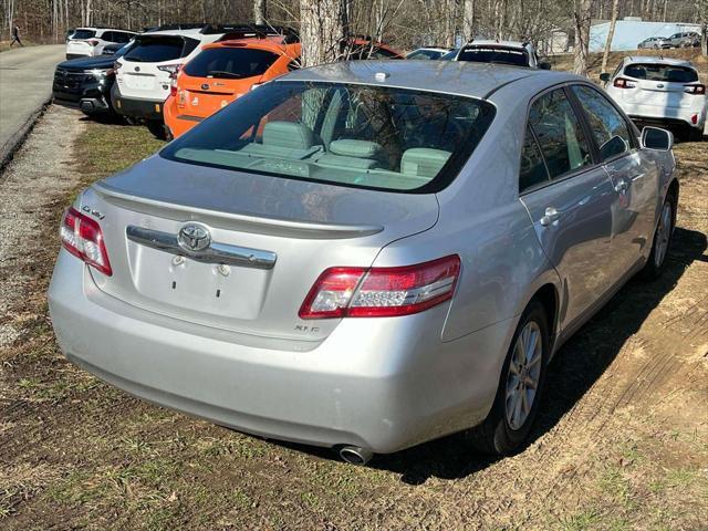
[[[532,354],[533,357],[531,358],[529,358],[529,350],[523,348],[524,337],[528,337],[524,334],[529,333],[529,331],[539,334],[540,347],[540,352]],[[525,351],[523,356],[519,351],[520,347]],[[524,448],[543,394],[549,354],[550,341],[546,312],[543,305],[534,300],[527,306],[519,320],[519,325],[504,360],[499,387],[489,415],[482,424],[465,433],[467,442],[476,451],[493,456],[510,456]],[[520,366],[519,362],[522,360],[524,362]],[[537,368],[538,373],[535,372]],[[535,389],[531,389],[530,386],[527,387],[525,383],[523,387],[519,388],[521,378],[517,375],[525,375],[531,381],[535,381]],[[513,389],[518,391],[514,393]],[[530,391],[532,393],[527,394]],[[522,396],[527,397],[525,400]],[[529,397],[531,405],[527,406],[529,407],[528,412],[523,412]],[[521,400],[521,404],[517,404],[518,400]],[[521,408],[518,412],[519,417],[516,416],[517,407]],[[525,416],[521,417],[521,415]]]

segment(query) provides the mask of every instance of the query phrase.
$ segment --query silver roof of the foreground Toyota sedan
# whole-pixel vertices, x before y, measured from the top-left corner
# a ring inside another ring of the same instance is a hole
[[[383,74],[383,75],[377,75]],[[516,81],[543,75],[548,84],[587,81],[559,71],[464,61],[344,61],[293,71],[278,81],[313,81],[395,86],[471,97],[487,97]],[[378,79],[384,77],[384,81]],[[377,79],[378,77],[378,79]],[[524,84],[518,84],[524,91]],[[532,84],[532,85],[535,85]]]

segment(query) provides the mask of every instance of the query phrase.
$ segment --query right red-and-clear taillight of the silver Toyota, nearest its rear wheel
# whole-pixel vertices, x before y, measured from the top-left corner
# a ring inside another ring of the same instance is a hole
[[[402,268],[330,268],[302,303],[301,319],[409,315],[447,301],[460,272],[457,254]]]

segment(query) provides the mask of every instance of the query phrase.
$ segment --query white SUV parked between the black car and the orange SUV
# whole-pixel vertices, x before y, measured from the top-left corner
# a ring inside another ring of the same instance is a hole
[[[179,69],[200,52],[202,44],[219,40],[235,28],[177,25],[139,34],[133,48],[115,62],[113,108],[128,121],[145,122],[160,136],[163,106]]]

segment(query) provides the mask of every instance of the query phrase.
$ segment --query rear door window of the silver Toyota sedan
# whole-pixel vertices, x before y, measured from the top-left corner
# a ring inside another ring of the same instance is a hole
[[[592,164],[587,139],[563,88],[548,92],[533,102],[529,124],[552,179]]]

